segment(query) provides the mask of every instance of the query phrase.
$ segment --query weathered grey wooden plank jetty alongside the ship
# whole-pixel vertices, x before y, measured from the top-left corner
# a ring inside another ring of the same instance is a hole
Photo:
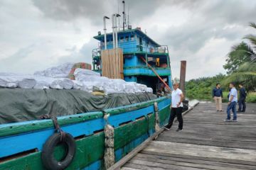
[[[237,123],[225,118],[213,103],[199,103],[183,116],[183,131],[174,123],[122,169],[256,169],[256,104],[247,103]]]

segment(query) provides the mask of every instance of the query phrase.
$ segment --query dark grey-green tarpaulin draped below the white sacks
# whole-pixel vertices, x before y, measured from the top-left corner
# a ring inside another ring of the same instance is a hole
[[[80,90],[0,89],[0,124],[40,120],[42,115],[101,111],[154,98],[154,94],[147,93],[94,96]]]

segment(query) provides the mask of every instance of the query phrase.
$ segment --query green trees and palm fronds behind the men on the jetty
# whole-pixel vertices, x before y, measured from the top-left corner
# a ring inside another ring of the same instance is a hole
[[[255,23],[250,23],[250,26],[256,29]],[[242,83],[249,91],[246,101],[256,103],[256,35],[246,35],[243,39],[248,43],[240,42],[239,45],[234,45],[227,55],[227,63],[223,65],[227,75],[191,79],[186,82],[187,98],[213,100],[212,90],[215,84],[220,83],[223,89],[223,102],[227,102],[228,84],[235,82],[237,89],[238,84]]]

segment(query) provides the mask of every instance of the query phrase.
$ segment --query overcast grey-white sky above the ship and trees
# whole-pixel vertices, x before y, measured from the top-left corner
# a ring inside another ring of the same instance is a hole
[[[232,45],[252,33],[256,1],[126,0],[132,27],[168,45],[173,77],[187,60],[186,79],[225,73]],[[0,72],[33,73],[64,62],[91,63],[92,36],[121,0],[0,0]],[[107,23],[110,31],[110,22]]]

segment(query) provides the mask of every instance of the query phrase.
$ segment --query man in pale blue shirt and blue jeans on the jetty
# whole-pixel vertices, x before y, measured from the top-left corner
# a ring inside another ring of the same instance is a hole
[[[227,115],[228,118],[225,121],[230,121],[230,110],[233,112],[233,121],[237,122],[237,113],[236,113],[236,103],[238,102],[238,91],[235,89],[235,83],[230,83],[230,94],[228,98],[228,108],[227,108]]]

